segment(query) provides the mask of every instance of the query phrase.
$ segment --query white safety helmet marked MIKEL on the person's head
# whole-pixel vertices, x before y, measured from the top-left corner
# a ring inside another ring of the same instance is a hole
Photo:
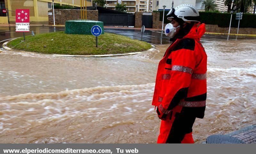
[[[196,7],[191,4],[181,4],[175,9],[171,8],[166,16],[168,20],[176,17],[181,18],[183,21],[196,21],[200,23],[199,12]]]

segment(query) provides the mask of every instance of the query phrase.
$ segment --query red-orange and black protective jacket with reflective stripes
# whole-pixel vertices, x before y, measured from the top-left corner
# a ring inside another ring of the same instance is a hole
[[[194,25],[186,36],[172,43],[159,62],[152,105],[162,113],[168,114],[179,105],[189,107],[197,118],[204,117],[207,55],[200,43],[204,33],[204,24]]]

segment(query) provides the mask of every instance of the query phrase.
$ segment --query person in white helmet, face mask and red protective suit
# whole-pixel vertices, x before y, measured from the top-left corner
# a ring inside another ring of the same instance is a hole
[[[207,55],[200,43],[205,32],[190,4],[172,8],[165,34],[173,43],[159,62],[153,106],[161,119],[157,143],[194,143],[192,126],[204,117]]]

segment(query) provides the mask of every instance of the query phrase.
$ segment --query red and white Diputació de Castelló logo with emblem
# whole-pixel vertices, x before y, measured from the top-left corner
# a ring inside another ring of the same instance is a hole
[[[16,9],[16,32],[29,32],[29,9]]]

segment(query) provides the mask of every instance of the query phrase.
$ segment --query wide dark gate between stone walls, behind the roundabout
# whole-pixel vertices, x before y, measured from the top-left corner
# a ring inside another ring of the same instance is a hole
[[[134,26],[135,15],[132,14],[99,14],[99,21],[104,26]]]

